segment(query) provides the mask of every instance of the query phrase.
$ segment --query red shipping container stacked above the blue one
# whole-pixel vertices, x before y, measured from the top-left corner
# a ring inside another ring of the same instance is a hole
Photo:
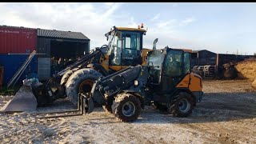
[[[0,54],[31,53],[36,45],[36,29],[0,26]]]

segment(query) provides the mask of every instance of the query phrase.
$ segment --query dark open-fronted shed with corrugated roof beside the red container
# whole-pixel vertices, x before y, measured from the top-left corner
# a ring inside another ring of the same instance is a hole
[[[66,63],[89,53],[90,39],[80,32],[38,29],[38,77],[43,81]]]

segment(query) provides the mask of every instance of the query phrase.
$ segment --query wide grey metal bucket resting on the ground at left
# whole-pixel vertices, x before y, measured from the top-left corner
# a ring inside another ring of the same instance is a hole
[[[34,111],[38,106],[37,99],[34,97],[30,86],[23,85],[0,111],[2,112],[19,112]]]

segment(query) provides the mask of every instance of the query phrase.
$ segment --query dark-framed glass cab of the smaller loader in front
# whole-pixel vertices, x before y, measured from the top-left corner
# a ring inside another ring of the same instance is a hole
[[[150,84],[154,89],[174,90],[178,82],[190,73],[190,53],[168,47],[164,50],[150,51],[148,66]]]

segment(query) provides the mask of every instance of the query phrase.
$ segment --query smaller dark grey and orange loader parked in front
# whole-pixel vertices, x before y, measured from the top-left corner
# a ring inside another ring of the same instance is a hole
[[[176,117],[187,117],[202,94],[202,78],[190,73],[190,53],[166,47],[148,52],[146,66],[130,66],[99,78],[90,95],[84,95],[84,108],[91,113],[98,103],[120,121],[132,122],[153,103]]]

